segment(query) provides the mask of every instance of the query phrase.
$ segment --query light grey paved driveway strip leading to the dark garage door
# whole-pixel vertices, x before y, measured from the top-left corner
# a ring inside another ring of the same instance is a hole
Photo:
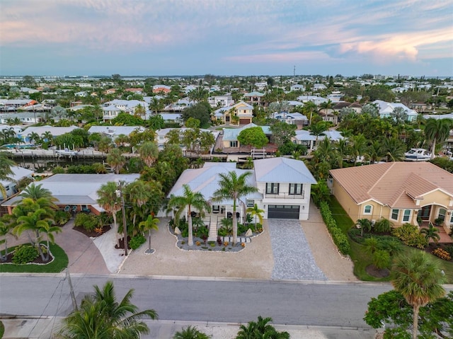
[[[327,280],[316,265],[299,220],[268,219],[274,254],[273,279]]]

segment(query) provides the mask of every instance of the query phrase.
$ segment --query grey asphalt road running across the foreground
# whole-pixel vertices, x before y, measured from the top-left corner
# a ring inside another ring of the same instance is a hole
[[[371,297],[389,284],[256,280],[168,280],[153,277],[71,275],[78,304],[93,285],[111,279],[121,299],[134,289],[139,309],[155,309],[161,320],[239,323],[270,316],[274,323],[367,327],[362,320]],[[0,315],[65,316],[71,311],[64,275],[1,275]]]

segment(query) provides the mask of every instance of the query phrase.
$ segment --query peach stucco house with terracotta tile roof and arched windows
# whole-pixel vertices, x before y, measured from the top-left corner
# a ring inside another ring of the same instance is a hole
[[[332,192],[351,219],[395,226],[442,219],[453,224],[453,174],[429,162],[389,162],[330,171]]]

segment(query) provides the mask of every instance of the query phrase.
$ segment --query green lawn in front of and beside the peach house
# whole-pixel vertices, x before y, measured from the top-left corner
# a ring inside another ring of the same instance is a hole
[[[331,198],[331,202],[329,202],[329,206],[331,207],[331,212],[333,218],[336,220],[337,226],[346,234],[348,235],[348,230],[355,224],[348,214],[346,214],[345,210],[341,205],[338,203],[338,201],[335,199],[335,197]],[[350,237],[348,236],[349,243],[351,246],[351,260],[354,263],[354,274],[355,276],[362,280],[362,281],[373,281],[373,282],[385,282],[385,281],[390,281],[390,277],[385,277],[385,278],[377,278],[377,277],[372,277],[366,272],[366,268],[368,265],[372,264],[372,258],[371,255],[368,255],[364,251],[364,247],[360,245],[359,243],[356,243],[355,241],[352,241]],[[420,251],[416,248],[412,248],[410,246],[404,246],[403,245],[403,251],[402,255],[405,255],[405,253],[408,253],[410,251]],[[432,255],[432,254],[430,254]],[[442,268],[444,269],[445,276],[447,277],[447,283],[452,284],[453,283],[453,263],[442,260],[440,258],[437,258],[435,255],[432,255],[432,258],[437,260]]]

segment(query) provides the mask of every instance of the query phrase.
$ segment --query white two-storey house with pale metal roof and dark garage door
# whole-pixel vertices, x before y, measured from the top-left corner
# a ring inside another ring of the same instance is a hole
[[[236,208],[243,222],[247,207],[255,204],[263,209],[264,219],[299,219],[309,218],[311,185],[316,180],[306,168],[303,161],[287,158],[269,158],[254,161],[254,170],[236,168],[236,163],[210,163],[202,168],[188,169],[183,172],[171,189],[170,195],[183,195],[183,185],[189,185],[194,192],[202,193],[210,201],[219,188],[219,173],[235,171],[238,176],[251,171],[253,176],[247,178],[247,184],[258,188],[241,200]],[[231,216],[233,201],[211,202],[212,213],[206,219],[220,222]]]

